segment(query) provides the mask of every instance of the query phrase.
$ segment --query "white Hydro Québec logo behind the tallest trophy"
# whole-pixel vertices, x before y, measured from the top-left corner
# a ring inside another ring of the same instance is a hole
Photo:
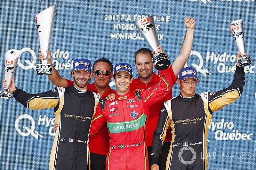
[[[24,53],[24,54],[23,54]],[[31,55],[31,59],[30,60],[24,60],[24,61],[20,61],[22,58],[22,55],[28,55],[28,53],[30,53]],[[68,51],[60,51],[60,49],[58,48],[56,51],[52,51],[52,64],[54,65],[56,70],[71,70],[73,68],[73,63],[74,60],[68,60],[69,58],[69,52]],[[65,62],[60,62],[57,59],[65,59],[67,61]],[[25,62],[25,64],[24,64]],[[20,50],[20,57],[18,60],[18,65],[21,69],[23,70],[30,70],[30,69],[34,69],[36,70],[36,63],[39,63],[39,59],[38,56],[36,55],[35,51],[31,48],[22,48]]]

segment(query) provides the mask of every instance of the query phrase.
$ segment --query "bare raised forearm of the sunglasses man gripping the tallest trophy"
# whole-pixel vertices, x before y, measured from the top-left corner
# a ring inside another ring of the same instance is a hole
[[[38,49],[39,53],[38,53],[38,58],[39,60],[48,60],[49,64],[52,64],[52,60],[51,60],[51,51],[47,50],[47,57],[44,57],[44,54],[41,53],[41,49]],[[59,72],[54,68],[53,64],[52,64],[52,75],[48,75],[48,77],[50,78],[52,84],[59,86],[59,87],[67,87],[68,86],[68,80],[65,78],[62,78],[59,74]]]

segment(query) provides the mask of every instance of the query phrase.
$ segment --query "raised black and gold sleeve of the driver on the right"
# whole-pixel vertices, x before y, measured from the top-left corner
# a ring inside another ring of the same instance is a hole
[[[244,67],[236,66],[233,82],[228,88],[218,92],[208,92],[208,108],[211,114],[212,112],[233,103],[241,96],[244,87],[244,75]]]

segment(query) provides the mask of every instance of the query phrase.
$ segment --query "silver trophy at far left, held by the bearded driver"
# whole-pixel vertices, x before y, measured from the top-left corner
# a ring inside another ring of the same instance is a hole
[[[16,49],[10,49],[4,54],[4,79],[6,87],[3,91],[0,91],[0,98],[11,99],[12,92],[9,92],[9,86],[12,82],[12,77],[14,70],[16,68],[18,59],[20,56],[20,51]]]

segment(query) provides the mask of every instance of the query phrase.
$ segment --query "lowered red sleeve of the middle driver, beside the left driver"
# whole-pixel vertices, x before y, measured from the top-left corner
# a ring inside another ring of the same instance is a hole
[[[90,128],[90,135],[95,135],[100,128],[106,124],[105,116],[103,115],[103,111],[101,110],[100,103],[96,108],[96,113],[92,118],[92,124]]]

